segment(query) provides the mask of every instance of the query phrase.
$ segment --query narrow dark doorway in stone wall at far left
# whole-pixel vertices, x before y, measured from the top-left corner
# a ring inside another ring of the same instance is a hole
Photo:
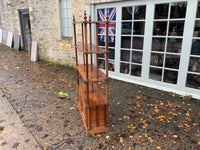
[[[23,48],[24,50],[28,51],[29,50],[28,43],[29,41],[31,41],[29,10],[28,9],[19,10],[19,18],[20,18]]]

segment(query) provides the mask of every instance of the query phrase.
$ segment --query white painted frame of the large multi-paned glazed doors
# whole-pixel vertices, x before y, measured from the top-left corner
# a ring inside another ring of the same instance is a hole
[[[183,41],[179,65],[179,73],[177,84],[170,84],[160,81],[154,81],[149,79],[149,67],[150,67],[150,53],[152,44],[153,33],[153,20],[154,20],[154,8],[155,4],[171,3],[171,2],[187,2],[187,11],[185,17],[185,26],[183,32]],[[189,56],[192,45],[193,29],[196,18],[198,0],[137,0],[115,3],[97,4],[91,7],[93,19],[97,19],[97,9],[116,7],[116,49],[115,49],[115,72],[109,72],[111,78],[140,84],[159,90],[168,92],[174,92],[180,95],[193,95],[194,98],[200,99],[200,90],[186,87],[186,78],[188,73]],[[120,47],[121,47],[121,14],[122,7],[134,6],[134,5],[146,5],[146,21],[145,21],[145,35],[144,35],[144,51],[142,61],[142,76],[130,76],[120,73]],[[94,39],[93,39],[94,41]]]

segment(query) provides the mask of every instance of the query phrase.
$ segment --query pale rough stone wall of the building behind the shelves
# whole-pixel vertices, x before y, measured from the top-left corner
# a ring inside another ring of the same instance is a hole
[[[77,20],[83,20],[84,10],[90,14],[90,5],[119,0],[71,0],[71,15],[76,14]],[[60,0],[8,0],[0,1],[0,27],[21,34],[19,10],[29,9],[32,41],[38,42],[39,58],[59,62],[74,63],[73,40],[61,37]],[[81,37],[81,30],[78,29]],[[70,42],[72,50],[61,50],[60,42]]]

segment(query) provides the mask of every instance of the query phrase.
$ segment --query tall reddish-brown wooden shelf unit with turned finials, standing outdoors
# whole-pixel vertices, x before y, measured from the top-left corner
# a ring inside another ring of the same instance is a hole
[[[77,44],[77,24],[81,26],[81,44]],[[96,27],[96,45],[92,45],[91,24]],[[99,24],[106,26],[106,44],[105,48],[98,47],[98,30]],[[84,12],[84,21],[75,21],[73,16],[74,27],[74,45],[76,56],[76,76],[78,91],[78,108],[80,111],[83,124],[87,133],[101,133],[109,129],[108,125],[108,15],[106,21],[87,20],[86,11]],[[88,31],[89,29],[89,31]],[[89,40],[88,40],[89,38]],[[89,44],[88,44],[89,43]],[[83,63],[79,64],[78,50],[82,53]],[[105,74],[98,68],[98,55],[106,55]],[[93,56],[96,56],[96,63],[93,63]],[[89,60],[90,58],[90,60]],[[81,76],[82,82],[79,79]],[[100,82],[105,82],[101,91]]]

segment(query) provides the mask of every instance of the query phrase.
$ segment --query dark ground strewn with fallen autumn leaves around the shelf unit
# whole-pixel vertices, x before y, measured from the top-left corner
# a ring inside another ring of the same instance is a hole
[[[110,130],[86,135],[75,70],[0,45],[0,90],[41,149],[200,150],[200,101],[109,80]],[[103,83],[102,83],[103,84]],[[60,91],[68,98],[58,99]],[[1,146],[0,146],[1,149]]]

